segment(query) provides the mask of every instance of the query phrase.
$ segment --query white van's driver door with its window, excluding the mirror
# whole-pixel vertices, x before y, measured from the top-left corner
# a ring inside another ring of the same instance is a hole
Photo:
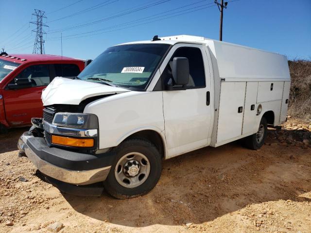
[[[164,86],[172,83],[171,66],[174,57],[187,57],[190,68],[186,90],[163,91],[168,157],[173,157],[208,144],[211,125],[211,107],[207,102],[210,76],[206,65],[207,55],[202,45],[176,44],[168,57],[170,60],[166,61],[166,67],[161,70]]]

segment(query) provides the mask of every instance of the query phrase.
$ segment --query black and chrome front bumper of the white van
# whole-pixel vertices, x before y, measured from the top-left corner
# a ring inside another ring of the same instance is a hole
[[[114,157],[112,152],[93,155],[50,148],[44,138],[35,137],[31,132],[20,136],[17,147],[44,175],[74,185],[104,181]]]

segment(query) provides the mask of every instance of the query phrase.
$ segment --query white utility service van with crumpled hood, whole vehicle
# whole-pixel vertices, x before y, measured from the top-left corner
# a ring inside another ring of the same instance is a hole
[[[131,198],[155,186],[162,159],[241,138],[260,148],[286,120],[290,82],[272,52],[190,35],[125,43],[55,78],[18,148],[65,192]]]

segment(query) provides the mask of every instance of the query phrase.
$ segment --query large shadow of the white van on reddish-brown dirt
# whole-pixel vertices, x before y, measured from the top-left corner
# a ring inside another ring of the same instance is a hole
[[[275,131],[269,130],[260,150],[235,142],[166,160],[159,182],[142,197],[117,200],[105,192],[99,198],[63,196],[83,215],[131,227],[198,224],[248,204],[311,201],[301,196],[311,191],[311,149],[276,145],[274,139]]]

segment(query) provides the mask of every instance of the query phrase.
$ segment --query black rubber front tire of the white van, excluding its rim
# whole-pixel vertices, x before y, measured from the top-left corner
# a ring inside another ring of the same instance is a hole
[[[154,144],[145,139],[129,139],[122,142],[114,150],[116,152],[116,157],[112,163],[110,172],[104,181],[104,188],[111,196],[117,199],[134,198],[148,193],[155,187],[155,184],[161,176],[162,161],[161,154]],[[137,187],[129,188],[122,186],[117,181],[115,171],[121,158],[131,152],[138,152],[147,157],[150,163],[150,172],[143,183],[139,184]]]

